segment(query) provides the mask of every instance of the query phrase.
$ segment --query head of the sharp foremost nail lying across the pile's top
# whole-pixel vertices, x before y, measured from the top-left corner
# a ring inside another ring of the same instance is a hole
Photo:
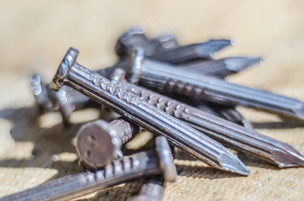
[[[73,65],[78,57],[79,51],[75,48],[70,48],[65,54],[59,68],[50,84],[50,88],[54,91],[58,91],[63,86],[63,81],[67,75],[68,70]]]

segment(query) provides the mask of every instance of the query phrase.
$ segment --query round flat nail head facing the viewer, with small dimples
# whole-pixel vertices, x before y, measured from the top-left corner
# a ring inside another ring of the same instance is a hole
[[[78,153],[92,167],[109,164],[117,157],[120,146],[116,131],[100,119],[86,123],[78,133]]]

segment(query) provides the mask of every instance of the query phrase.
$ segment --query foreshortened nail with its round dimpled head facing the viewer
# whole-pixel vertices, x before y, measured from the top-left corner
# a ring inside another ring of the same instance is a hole
[[[89,166],[102,167],[117,158],[122,144],[139,131],[137,125],[123,118],[110,123],[97,119],[81,127],[77,135],[77,150]]]

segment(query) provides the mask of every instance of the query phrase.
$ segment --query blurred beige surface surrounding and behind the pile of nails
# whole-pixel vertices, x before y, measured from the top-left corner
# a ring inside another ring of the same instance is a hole
[[[63,132],[58,113],[36,119],[29,88],[33,71],[50,81],[70,46],[80,50],[79,63],[97,69],[117,60],[117,38],[138,23],[150,37],[169,31],[181,44],[234,38],[237,45],[217,58],[251,55],[265,61],[230,81],[304,101],[303,9],[303,1],[287,0],[1,1],[0,195],[78,171],[70,140],[74,132]],[[257,131],[304,154],[302,128],[271,123],[279,120],[272,115],[242,111]],[[96,116],[96,111],[81,111],[72,117],[81,122]],[[251,156],[239,156],[250,170],[248,177],[206,168],[186,156],[176,160],[179,176],[168,185],[164,200],[303,200],[303,169],[278,170]],[[89,200],[125,200],[137,189],[138,183],[129,183]]]

